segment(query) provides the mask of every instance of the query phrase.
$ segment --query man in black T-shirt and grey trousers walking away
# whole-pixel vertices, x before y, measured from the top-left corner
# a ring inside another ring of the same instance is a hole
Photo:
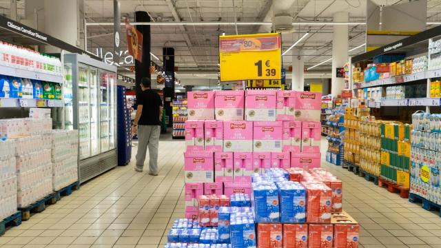
[[[158,176],[158,143],[161,134],[161,117],[163,102],[158,93],[151,89],[150,79],[141,79],[140,99],[135,116],[135,127],[138,127],[138,152],[136,153],[136,172],[143,172],[147,146],[149,147],[149,174]]]

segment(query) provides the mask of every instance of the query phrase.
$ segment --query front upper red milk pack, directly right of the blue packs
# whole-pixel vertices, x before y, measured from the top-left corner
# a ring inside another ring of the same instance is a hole
[[[303,183],[307,190],[307,223],[330,223],[332,192],[323,183]]]

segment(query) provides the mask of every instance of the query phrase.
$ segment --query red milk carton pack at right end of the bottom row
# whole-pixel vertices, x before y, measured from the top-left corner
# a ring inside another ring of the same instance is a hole
[[[334,247],[358,248],[359,236],[360,226],[358,224],[334,225]]]

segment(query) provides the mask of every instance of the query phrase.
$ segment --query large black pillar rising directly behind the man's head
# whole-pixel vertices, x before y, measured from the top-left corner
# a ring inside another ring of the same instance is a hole
[[[150,17],[145,11],[135,12],[136,22],[150,22]],[[143,61],[135,60],[135,90],[136,98],[141,94],[141,79],[147,77],[150,79],[150,25],[136,25],[136,30],[143,34]]]

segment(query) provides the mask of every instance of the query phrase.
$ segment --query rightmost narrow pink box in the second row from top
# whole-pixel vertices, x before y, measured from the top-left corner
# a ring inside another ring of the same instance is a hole
[[[320,152],[320,121],[302,121],[302,152]]]

